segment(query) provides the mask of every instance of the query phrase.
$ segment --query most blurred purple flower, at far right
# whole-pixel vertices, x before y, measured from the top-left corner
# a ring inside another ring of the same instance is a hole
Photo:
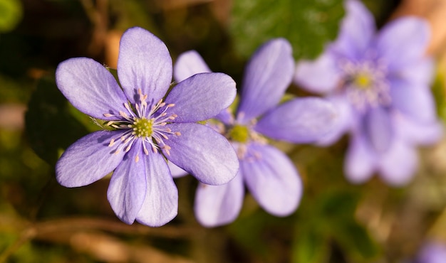
[[[295,81],[337,105],[340,122],[319,143],[351,134],[349,181],[361,183],[378,171],[387,183],[403,185],[417,167],[415,146],[442,134],[429,90],[432,60],[425,57],[430,28],[405,17],[375,33],[361,2],[346,1],[346,12],[338,39],[316,61],[299,63]]]

